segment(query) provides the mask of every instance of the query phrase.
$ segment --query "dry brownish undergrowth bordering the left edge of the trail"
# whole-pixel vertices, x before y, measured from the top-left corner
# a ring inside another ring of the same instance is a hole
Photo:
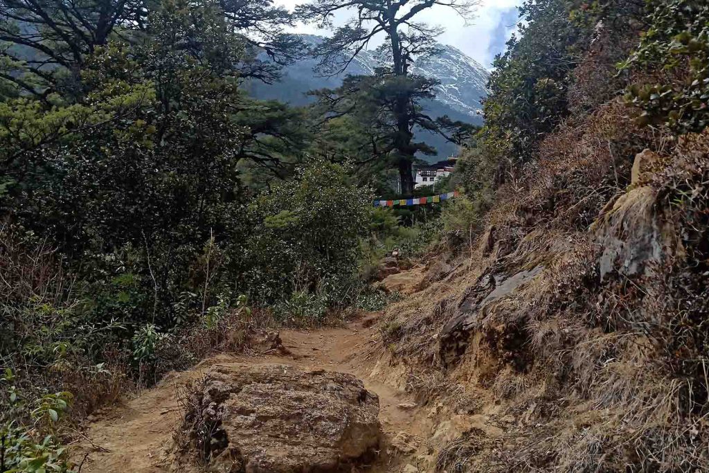
[[[136,366],[121,323],[93,320],[86,293],[67,274],[55,248],[0,225],[0,420],[33,425],[35,401],[69,391],[72,406],[60,425],[86,416],[186,369],[213,352],[242,352],[276,324],[268,311],[231,311],[212,328],[194,324],[164,335],[154,359]],[[13,409],[9,386],[28,408]],[[21,418],[19,418],[21,417]],[[74,431],[74,430],[72,430]]]

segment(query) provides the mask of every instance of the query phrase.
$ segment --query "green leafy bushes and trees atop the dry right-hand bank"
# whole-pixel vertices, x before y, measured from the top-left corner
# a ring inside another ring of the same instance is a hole
[[[705,14],[693,1],[526,1],[518,36],[496,57],[486,123],[459,162],[457,184],[485,208],[494,189],[534,165],[560,123],[618,96],[628,122],[703,130]],[[635,144],[611,146],[622,155]]]

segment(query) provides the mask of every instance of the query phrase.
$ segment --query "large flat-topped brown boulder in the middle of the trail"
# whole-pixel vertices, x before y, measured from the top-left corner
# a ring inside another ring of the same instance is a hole
[[[216,471],[339,472],[379,444],[378,414],[379,398],[350,374],[216,365],[185,425]]]

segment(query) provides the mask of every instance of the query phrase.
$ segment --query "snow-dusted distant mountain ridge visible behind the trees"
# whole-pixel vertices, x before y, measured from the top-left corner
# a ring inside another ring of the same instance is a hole
[[[301,38],[311,46],[324,39],[316,35],[301,35]],[[488,92],[486,84],[490,73],[479,62],[457,48],[448,45],[440,45],[440,48],[439,55],[418,60],[411,69],[413,74],[440,82],[436,99],[423,104],[425,110],[434,117],[447,115],[453,120],[481,124],[481,102]],[[249,84],[250,94],[257,99],[277,99],[294,106],[303,106],[313,100],[307,95],[308,91],[339,87],[342,79],[348,74],[374,74],[374,69],[383,63],[373,51],[363,51],[345,72],[334,77],[323,77],[323,74],[315,72],[317,65],[318,61],[312,57],[295,62],[284,68],[281,80],[276,84]],[[416,138],[438,150],[439,157],[434,156],[427,160],[436,161],[441,156],[450,156],[457,152],[455,145],[447,143],[435,133],[419,130]]]

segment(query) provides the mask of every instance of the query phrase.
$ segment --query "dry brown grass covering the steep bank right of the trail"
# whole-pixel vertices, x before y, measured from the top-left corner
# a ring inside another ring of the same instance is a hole
[[[663,257],[601,280],[598,232],[632,240],[639,216],[628,207],[615,228],[592,224],[627,192],[644,148],[664,156],[639,184],[654,190],[642,218]],[[429,399],[445,399],[447,381],[482,389],[481,409],[512,419],[501,443],[454,440],[438,471],[709,471],[708,169],[709,133],[637,129],[615,100],[571,118],[498,193],[462,269],[386,311],[399,327],[393,352],[428,376],[411,389]],[[443,367],[437,335],[480,276],[539,264],[539,277],[485,307],[467,351]]]

